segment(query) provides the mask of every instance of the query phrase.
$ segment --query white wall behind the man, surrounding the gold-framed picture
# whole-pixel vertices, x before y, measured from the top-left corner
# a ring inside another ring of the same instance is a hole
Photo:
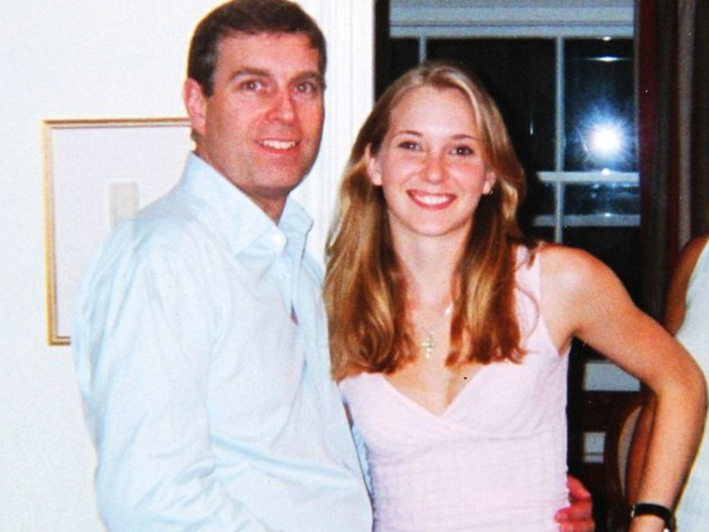
[[[47,342],[42,121],[183,116],[189,36],[216,4],[5,0],[0,6],[2,532],[102,529],[71,352]],[[371,105],[373,2],[302,4],[330,45],[323,157],[298,191],[316,215],[311,249],[319,250],[347,150]]]

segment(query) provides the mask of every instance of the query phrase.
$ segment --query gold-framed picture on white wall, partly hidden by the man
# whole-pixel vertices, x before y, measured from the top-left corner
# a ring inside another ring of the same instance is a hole
[[[72,300],[101,240],[177,184],[192,149],[184,118],[45,120],[48,342],[70,341]]]

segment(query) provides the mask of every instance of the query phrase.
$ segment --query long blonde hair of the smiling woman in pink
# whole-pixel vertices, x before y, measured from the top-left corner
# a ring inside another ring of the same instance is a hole
[[[367,175],[365,154],[381,149],[391,114],[411,89],[462,91],[471,104],[482,157],[496,177],[493,194],[474,213],[454,272],[451,350],[447,366],[523,356],[515,315],[515,244],[532,247],[516,220],[525,176],[502,116],[479,81],[462,67],[426,62],[379,98],[359,130],[340,187],[328,239],[325,304],[336,380],[362,372],[393,373],[418,356],[406,311],[407,286],[393,249],[381,187]]]

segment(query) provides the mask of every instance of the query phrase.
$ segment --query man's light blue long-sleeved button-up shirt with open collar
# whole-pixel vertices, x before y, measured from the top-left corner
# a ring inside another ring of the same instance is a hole
[[[104,243],[72,344],[109,530],[371,530],[310,227],[190,154]]]

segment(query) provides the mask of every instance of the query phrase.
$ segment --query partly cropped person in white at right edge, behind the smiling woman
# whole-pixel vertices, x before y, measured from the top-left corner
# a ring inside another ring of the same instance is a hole
[[[677,261],[667,292],[664,325],[709,374],[709,235],[691,239]],[[637,499],[647,441],[657,409],[654,394],[638,419],[628,461],[628,499]],[[709,434],[705,432],[691,474],[677,506],[682,532],[704,532],[709,522]]]

